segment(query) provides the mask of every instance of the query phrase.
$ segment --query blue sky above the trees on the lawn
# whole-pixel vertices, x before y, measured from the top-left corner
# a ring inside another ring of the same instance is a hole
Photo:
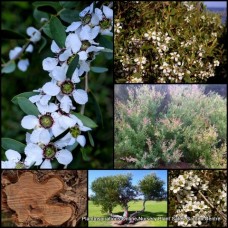
[[[165,182],[164,189],[167,190],[166,170],[89,170],[89,196],[92,195],[91,183],[98,177],[114,176],[118,174],[132,173],[132,183],[137,185],[144,176],[155,173],[157,177]]]

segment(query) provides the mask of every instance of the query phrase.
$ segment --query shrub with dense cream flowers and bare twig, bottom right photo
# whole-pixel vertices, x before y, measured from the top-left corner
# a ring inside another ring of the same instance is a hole
[[[169,217],[172,226],[226,227],[227,172],[171,171]]]

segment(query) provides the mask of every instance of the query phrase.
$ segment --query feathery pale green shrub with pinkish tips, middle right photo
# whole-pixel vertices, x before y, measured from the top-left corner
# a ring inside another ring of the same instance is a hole
[[[127,88],[115,100],[116,168],[226,167],[226,99],[197,85]]]

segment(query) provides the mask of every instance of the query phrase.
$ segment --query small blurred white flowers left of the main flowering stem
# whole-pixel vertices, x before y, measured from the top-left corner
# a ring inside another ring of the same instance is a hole
[[[18,55],[20,55],[21,52],[33,52],[33,45],[31,43],[36,43],[41,39],[41,33],[39,30],[33,28],[33,27],[28,27],[27,28],[27,35],[30,37],[29,45],[23,50],[22,47],[15,47],[13,50],[9,51],[9,59],[14,60],[17,58]],[[17,63],[18,69],[25,72],[29,66],[29,60],[28,59],[20,59]]]

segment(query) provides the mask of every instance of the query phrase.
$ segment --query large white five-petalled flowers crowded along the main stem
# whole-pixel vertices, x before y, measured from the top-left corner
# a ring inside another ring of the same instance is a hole
[[[7,150],[8,161],[2,161],[3,168],[29,168],[35,165],[50,169],[54,158],[67,166],[73,159],[71,147],[77,143],[85,146],[86,138],[82,132],[91,128],[84,126],[72,111],[76,109],[74,102],[84,105],[88,95],[87,91],[79,89],[77,83],[84,73],[90,71],[90,62],[104,49],[95,42],[95,38],[98,34],[113,35],[113,10],[105,5],[102,10],[94,9],[92,3],[79,16],[81,21],[73,22],[66,29],[65,47],[60,48],[52,41],[51,50],[55,57],[43,60],[43,69],[48,71],[51,80],[34,90],[38,94],[29,98],[39,110],[38,117],[27,115],[21,121],[23,128],[32,130],[26,133],[26,158],[21,162],[21,155],[17,151]],[[32,33],[32,42],[38,41],[38,38],[36,32]],[[69,64],[76,55],[79,56],[78,66],[71,78],[67,78]],[[68,133],[61,138],[66,131]]]

